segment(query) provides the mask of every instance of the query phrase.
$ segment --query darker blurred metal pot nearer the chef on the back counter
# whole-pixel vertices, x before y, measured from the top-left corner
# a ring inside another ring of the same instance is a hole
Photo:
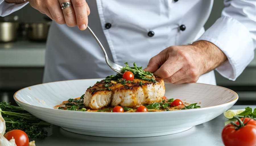
[[[31,41],[46,41],[51,22],[28,23],[28,38]]]

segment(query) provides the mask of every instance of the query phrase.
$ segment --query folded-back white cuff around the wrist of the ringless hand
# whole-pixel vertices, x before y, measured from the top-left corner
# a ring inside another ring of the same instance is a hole
[[[229,80],[236,80],[254,58],[249,30],[231,17],[220,17],[198,40],[213,43],[227,56],[228,61],[218,66],[216,71]]]

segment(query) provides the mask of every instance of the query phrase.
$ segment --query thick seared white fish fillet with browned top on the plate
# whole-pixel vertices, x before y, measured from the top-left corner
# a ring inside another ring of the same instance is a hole
[[[106,106],[136,107],[161,102],[165,93],[164,80],[155,80],[148,82],[135,79],[125,85],[114,81],[107,84],[102,80],[86,90],[84,105],[91,109],[101,109]]]

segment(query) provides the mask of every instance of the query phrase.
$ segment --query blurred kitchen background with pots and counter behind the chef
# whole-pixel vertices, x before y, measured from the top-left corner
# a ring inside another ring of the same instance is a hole
[[[214,1],[205,29],[220,17],[223,7],[223,1]],[[0,17],[0,101],[16,104],[13,100],[16,91],[42,83],[46,37],[51,20],[29,4],[9,16]],[[256,59],[236,81],[223,78],[217,72],[215,74],[217,85],[238,93],[236,104],[256,104]]]

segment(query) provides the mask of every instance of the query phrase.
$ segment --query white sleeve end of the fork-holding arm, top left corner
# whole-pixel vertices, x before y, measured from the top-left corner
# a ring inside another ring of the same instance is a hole
[[[4,0],[0,0],[0,16],[7,16],[19,9],[23,8],[28,4],[28,1],[25,3],[15,4],[15,3],[7,3]]]

